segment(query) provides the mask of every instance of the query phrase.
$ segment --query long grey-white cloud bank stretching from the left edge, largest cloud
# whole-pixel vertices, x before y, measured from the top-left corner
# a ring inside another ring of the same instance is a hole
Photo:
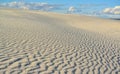
[[[54,10],[54,9],[59,9],[61,5],[39,3],[39,2],[36,2],[36,3],[10,2],[10,3],[2,3],[0,6],[11,7],[11,8],[20,8],[20,9],[50,11],[50,10]]]

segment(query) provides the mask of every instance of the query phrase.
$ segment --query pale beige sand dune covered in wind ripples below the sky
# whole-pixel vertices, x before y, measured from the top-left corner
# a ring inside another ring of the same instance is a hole
[[[119,74],[120,22],[0,9],[0,74]]]

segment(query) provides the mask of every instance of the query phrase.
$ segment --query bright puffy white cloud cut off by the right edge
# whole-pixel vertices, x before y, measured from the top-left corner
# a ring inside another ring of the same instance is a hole
[[[120,15],[120,6],[115,6],[114,8],[106,8],[103,10],[103,12],[107,14]]]

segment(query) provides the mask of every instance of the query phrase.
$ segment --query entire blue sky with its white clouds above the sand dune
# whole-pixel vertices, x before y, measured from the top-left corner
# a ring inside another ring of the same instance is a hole
[[[0,0],[0,6],[120,18],[120,0]]]

